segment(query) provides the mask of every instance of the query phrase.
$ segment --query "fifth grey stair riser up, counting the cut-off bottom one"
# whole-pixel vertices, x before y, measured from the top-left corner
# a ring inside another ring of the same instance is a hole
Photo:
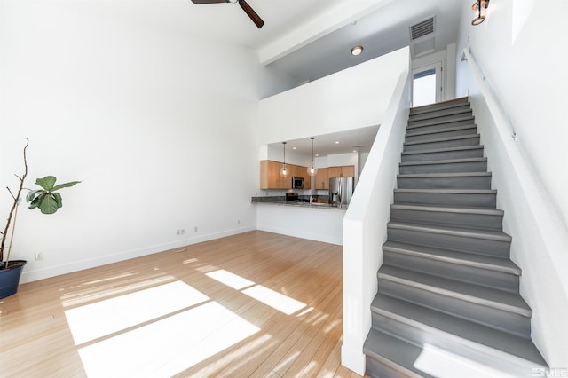
[[[387,235],[389,240],[402,243],[422,244],[433,248],[446,248],[458,252],[509,258],[509,241],[478,239],[461,235],[420,232],[392,227],[388,228]]]

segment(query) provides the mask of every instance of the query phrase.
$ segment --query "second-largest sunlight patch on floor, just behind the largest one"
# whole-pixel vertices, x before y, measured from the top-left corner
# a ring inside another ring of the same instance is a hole
[[[65,311],[75,345],[209,300],[182,281],[150,287]]]

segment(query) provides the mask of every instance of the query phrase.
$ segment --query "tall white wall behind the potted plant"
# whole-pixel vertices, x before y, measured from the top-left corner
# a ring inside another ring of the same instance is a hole
[[[81,5],[0,6],[0,183],[17,184],[24,137],[28,187],[49,174],[83,181],[55,215],[20,209],[22,281],[256,228],[257,100],[288,78],[253,51]]]

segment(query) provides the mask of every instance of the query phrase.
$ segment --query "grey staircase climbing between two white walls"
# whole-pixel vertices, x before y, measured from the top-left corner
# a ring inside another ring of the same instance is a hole
[[[372,328],[372,377],[532,377],[546,366],[468,98],[411,109]]]

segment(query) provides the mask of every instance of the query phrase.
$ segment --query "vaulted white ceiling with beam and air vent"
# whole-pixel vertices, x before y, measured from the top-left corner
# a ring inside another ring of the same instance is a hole
[[[257,52],[259,62],[288,72],[300,83],[407,45],[413,58],[445,50],[455,42],[461,7],[467,5],[464,0],[247,0],[264,20],[259,29],[239,4],[193,4],[191,0],[51,2],[74,12],[246,47]],[[433,32],[413,41],[410,26],[430,17],[434,18]],[[357,44],[364,51],[353,57],[351,47]],[[349,145],[353,144],[356,142],[351,140]]]

